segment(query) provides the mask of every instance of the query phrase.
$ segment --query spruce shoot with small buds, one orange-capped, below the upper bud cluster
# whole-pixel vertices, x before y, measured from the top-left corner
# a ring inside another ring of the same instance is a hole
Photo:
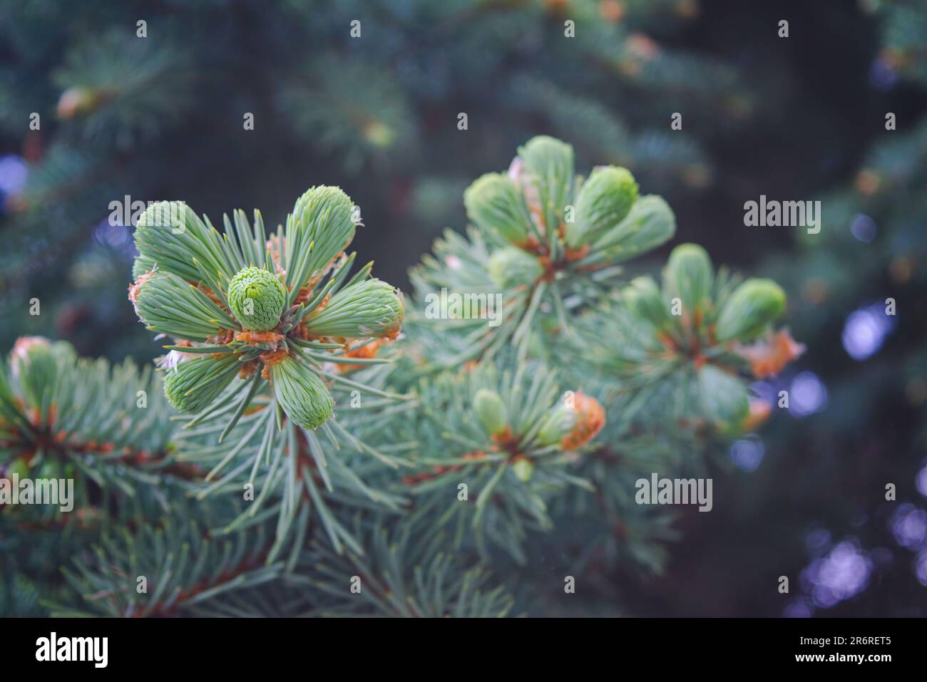
[[[402,477],[414,496],[409,523],[524,561],[527,534],[552,528],[549,500],[563,486],[589,487],[569,470],[602,428],[602,407],[581,394],[558,400],[555,374],[537,363],[442,373],[419,396],[420,454]]]

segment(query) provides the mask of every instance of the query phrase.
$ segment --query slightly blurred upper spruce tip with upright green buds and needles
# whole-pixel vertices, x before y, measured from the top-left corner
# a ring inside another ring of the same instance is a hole
[[[426,257],[412,273],[416,295],[486,292],[502,298],[506,314],[486,329],[474,312],[459,312],[458,336],[467,340],[450,346],[457,353],[439,353],[435,367],[489,359],[509,339],[525,358],[531,332],[568,333],[567,311],[606,297],[618,282],[616,263],[661,245],[676,229],[666,202],[638,198],[628,170],[600,168],[583,183],[574,175],[573,148],[547,136],[520,147],[506,175],[473,183],[464,205],[476,227],[470,243],[451,234],[436,242],[438,258]]]

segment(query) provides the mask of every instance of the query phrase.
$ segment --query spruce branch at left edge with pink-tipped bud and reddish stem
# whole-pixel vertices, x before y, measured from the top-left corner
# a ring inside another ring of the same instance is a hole
[[[0,467],[20,478],[75,480],[75,511],[101,494],[133,496],[159,477],[196,477],[173,460],[170,409],[151,369],[79,360],[63,342],[22,337],[0,360]],[[3,506],[27,522],[77,519],[58,506]]]

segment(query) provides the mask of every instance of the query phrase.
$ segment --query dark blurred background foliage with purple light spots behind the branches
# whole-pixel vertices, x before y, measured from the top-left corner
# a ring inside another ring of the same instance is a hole
[[[405,285],[442,229],[463,230],[466,185],[550,133],[579,168],[624,165],[665,196],[678,242],[778,280],[807,347],[756,385],[788,389],[789,410],[734,444],[714,513],[683,510],[666,574],[616,575],[632,612],[925,615],[924,44],[921,1],[3,0],[0,347],[159,354],[125,298],[132,226],[110,202],[274,224],[338,184],[362,208],[360,256]],[[819,199],[821,232],[744,227],[760,195]]]

